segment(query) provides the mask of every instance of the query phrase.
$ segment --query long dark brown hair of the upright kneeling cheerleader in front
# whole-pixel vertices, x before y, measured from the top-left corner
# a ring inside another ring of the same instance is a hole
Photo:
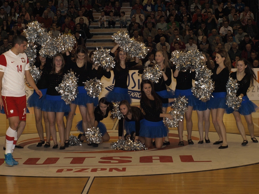
[[[157,109],[160,113],[163,113],[163,107],[162,107],[162,101],[160,100],[160,98],[158,97],[158,95],[155,93],[155,89],[154,89],[154,84],[152,81],[150,81],[149,79],[144,79],[142,80],[142,82],[140,83],[140,91],[141,91],[141,99],[140,100],[144,100],[146,102],[146,104],[148,106],[150,106],[151,108],[154,108],[151,106],[150,100],[149,98],[146,96],[144,90],[143,90],[143,85],[144,84],[150,84],[151,85],[151,95],[154,97],[155,103],[156,103],[156,107],[155,109]],[[142,108],[141,108],[142,109]],[[143,110],[143,109],[142,109]]]

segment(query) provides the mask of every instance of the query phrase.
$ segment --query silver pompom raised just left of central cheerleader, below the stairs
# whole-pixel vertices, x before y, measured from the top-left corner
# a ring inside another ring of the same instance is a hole
[[[95,66],[111,69],[115,66],[114,58],[110,55],[109,49],[97,49],[93,55],[93,63]]]

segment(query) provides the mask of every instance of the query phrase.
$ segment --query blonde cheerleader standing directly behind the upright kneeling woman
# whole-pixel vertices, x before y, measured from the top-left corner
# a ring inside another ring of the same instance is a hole
[[[160,70],[162,71],[162,77],[159,78],[158,83],[154,83],[155,92],[162,98],[174,98],[174,91],[170,89],[167,91],[168,86],[172,83],[172,71],[168,64],[167,53],[164,50],[158,50],[155,53],[155,61],[156,64],[160,66]],[[167,107],[171,106],[171,104],[163,103],[163,113],[166,114]],[[169,133],[164,137],[163,145],[170,145],[169,142]]]

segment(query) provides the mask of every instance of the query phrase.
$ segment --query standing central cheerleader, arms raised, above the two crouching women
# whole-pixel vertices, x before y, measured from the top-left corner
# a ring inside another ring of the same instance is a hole
[[[114,57],[114,52],[119,48],[119,44],[113,47],[110,51],[110,55]],[[120,102],[122,100],[128,100],[131,103],[131,97],[128,94],[128,73],[129,68],[139,63],[139,58],[136,57],[135,61],[126,61],[127,53],[119,49],[115,57],[116,64],[113,68],[114,73],[114,88],[108,92],[105,96],[109,102]]]

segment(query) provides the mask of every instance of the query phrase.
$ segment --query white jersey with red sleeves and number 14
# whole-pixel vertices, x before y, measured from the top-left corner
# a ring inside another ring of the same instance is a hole
[[[2,96],[21,97],[25,95],[24,73],[30,70],[25,53],[14,54],[11,49],[0,55],[2,79]]]

